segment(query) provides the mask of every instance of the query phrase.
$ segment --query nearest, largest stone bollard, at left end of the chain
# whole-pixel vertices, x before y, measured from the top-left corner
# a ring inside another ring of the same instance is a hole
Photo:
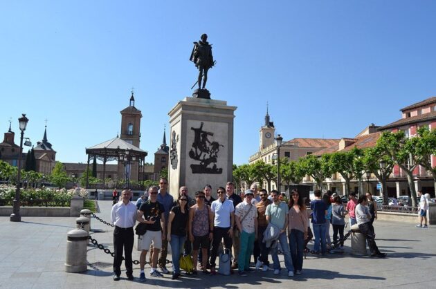
[[[71,230],[66,239],[65,272],[78,273],[87,270],[88,233],[85,230]]]

